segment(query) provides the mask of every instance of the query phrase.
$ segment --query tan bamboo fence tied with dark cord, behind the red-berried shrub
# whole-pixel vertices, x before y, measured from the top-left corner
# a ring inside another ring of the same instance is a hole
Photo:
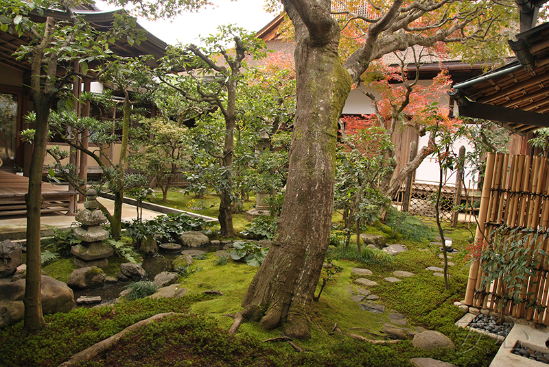
[[[515,235],[511,240],[521,238],[524,249],[529,246],[528,258],[537,266],[533,275],[517,274],[511,269],[487,284],[482,282],[488,271],[487,262],[476,260],[469,268],[465,294],[467,305],[503,311],[516,318],[549,325],[548,261],[538,251],[549,252],[549,236],[546,234],[549,224],[548,164],[546,158],[538,156],[488,155],[475,237],[477,255],[486,253],[488,246],[494,246],[495,230],[504,227],[519,233],[520,237]],[[506,258],[509,253],[498,256]],[[522,280],[509,285],[509,278],[517,279],[517,275]]]

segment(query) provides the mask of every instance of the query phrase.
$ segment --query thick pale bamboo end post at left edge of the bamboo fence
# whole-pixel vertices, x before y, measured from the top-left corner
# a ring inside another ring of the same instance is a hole
[[[489,153],[486,162],[486,171],[484,173],[484,184],[482,185],[482,196],[480,199],[480,210],[478,213],[478,226],[475,234],[475,244],[480,241],[484,242],[484,227],[486,223],[488,204],[490,201],[490,184],[493,175],[493,166],[495,162],[495,155]],[[473,305],[473,299],[475,296],[476,282],[478,278],[479,261],[476,260],[471,264],[469,268],[469,280],[467,281],[467,290],[465,292],[465,304]]]

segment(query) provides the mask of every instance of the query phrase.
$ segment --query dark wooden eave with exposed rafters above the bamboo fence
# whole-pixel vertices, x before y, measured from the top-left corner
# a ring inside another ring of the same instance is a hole
[[[549,23],[509,41],[505,66],[453,86],[460,116],[500,121],[518,134],[549,127]],[[522,45],[522,47],[519,47]]]

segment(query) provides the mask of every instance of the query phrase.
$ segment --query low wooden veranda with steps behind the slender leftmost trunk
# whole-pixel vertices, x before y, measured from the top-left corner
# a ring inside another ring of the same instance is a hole
[[[27,213],[25,194],[29,188],[29,179],[14,173],[0,170],[0,216],[14,216]],[[72,214],[71,200],[78,192],[69,191],[67,186],[42,184],[42,213],[62,212]]]

